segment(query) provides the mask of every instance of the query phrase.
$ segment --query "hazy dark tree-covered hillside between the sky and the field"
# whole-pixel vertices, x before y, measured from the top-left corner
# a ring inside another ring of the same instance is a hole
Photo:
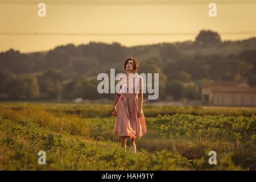
[[[199,100],[204,82],[243,81],[256,85],[256,38],[221,41],[217,32],[202,30],[195,42],[125,47],[90,42],[57,46],[47,52],[0,52],[0,100],[114,99],[99,94],[100,73],[123,73],[128,57],[139,60],[138,73],[159,73],[159,100]],[[188,85],[188,86],[187,86]]]

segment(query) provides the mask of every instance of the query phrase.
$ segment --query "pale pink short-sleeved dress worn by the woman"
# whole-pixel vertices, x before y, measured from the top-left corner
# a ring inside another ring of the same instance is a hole
[[[138,81],[136,82],[135,79]],[[138,91],[135,91],[135,86],[139,88],[138,90],[143,90],[143,78],[139,76],[138,73],[134,74],[132,93],[129,93],[129,84],[127,86],[127,81],[125,80],[126,79],[123,77],[119,78],[121,88],[125,86],[127,92],[119,92],[121,96],[119,97],[116,106],[117,117],[115,120],[114,134],[118,134],[119,137],[128,138],[141,137],[147,133],[146,122],[143,110],[141,117],[137,117],[139,110],[139,100]]]

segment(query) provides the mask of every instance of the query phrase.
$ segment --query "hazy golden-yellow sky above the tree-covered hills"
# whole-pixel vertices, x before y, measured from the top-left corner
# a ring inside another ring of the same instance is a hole
[[[39,2],[46,4],[46,17],[38,16]],[[210,2],[216,17],[208,15]],[[128,47],[193,41],[203,29],[242,40],[256,37],[255,19],[255,0],[0,0],[0,52],[91,41]]]

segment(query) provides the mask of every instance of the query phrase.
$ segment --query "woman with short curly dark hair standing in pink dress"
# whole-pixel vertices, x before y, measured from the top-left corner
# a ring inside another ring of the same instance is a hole
[[[121,137],[126,152],[126,138],[131,139],[131,152],[136,153],[135,138],[146,134],[146,122],[142,109],[143,79],[138,75],[139,63],[129,58],[125,61],[125,75],[119,77],[120,92],[116,94],[112,115],[116,115],[114,134]],[[133,81],[129,81],[133,78]],[[130,89],[129,89],[130,86]],[[132,88],[132,92],[130,92]]]

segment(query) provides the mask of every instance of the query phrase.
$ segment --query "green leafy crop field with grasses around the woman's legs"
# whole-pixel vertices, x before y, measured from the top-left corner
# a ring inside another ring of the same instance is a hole
[[[256,169],[256,108],[144,105],[147,134],[135,155],[113,135],[111,108],[2,102],[0,170]],[[38,164],[42,150],[46,165]]]

